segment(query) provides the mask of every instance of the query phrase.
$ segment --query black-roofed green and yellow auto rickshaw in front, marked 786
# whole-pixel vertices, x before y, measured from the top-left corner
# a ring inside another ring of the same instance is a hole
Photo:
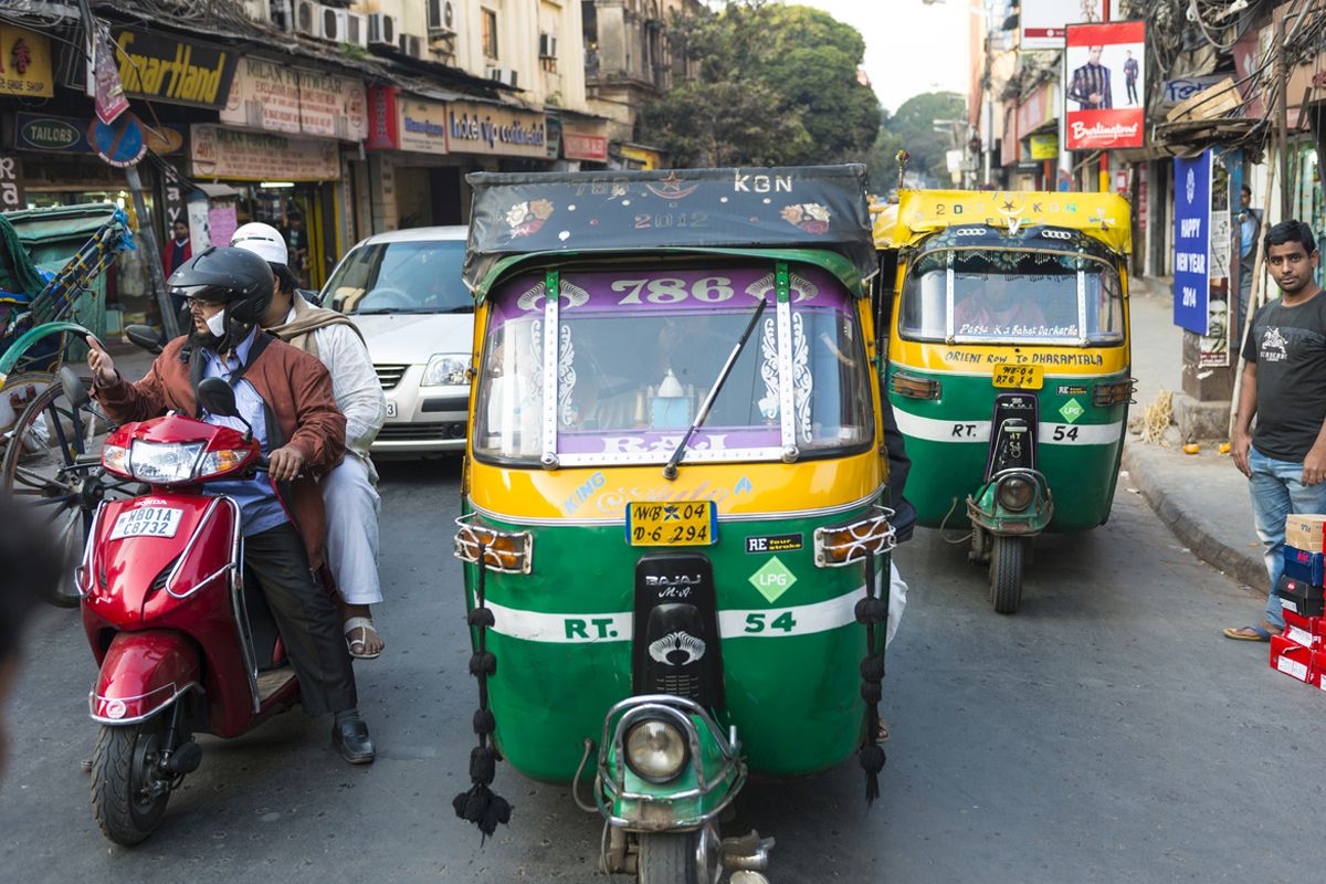
[[[764,880],[772,839],[719,836],[748,775],[859,753],[870,795],[883,765],[863,168],[469,182],[480,710],[456,812],[505,822],[500,754],[602,814],[606,872]]]

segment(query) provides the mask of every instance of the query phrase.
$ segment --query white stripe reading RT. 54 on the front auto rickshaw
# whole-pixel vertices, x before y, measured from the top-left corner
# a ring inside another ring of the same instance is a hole
[[[866,594],[861,586],[833,599],[785,608],[749,608],[719,611],[719,634],[732,639],[781,639],[789,635],[814,635],[857,622],[857,602]],[[493,632],[525,641],[552,644],[599,644],[630,641],[633,615],[614,614],[545,614],[520,611],[488,602],[493,612]],[[789,616],[790,615],[790,616]],[[780,626],[773,626],[774,623]]]

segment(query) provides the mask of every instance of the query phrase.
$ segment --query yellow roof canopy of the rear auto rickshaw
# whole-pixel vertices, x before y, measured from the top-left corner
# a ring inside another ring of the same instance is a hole
[[[875,216],[876,249],[911,245],[935,231],[961,224],[989,224],[1014,232],[1045,224],[1082,231],[1115,252],[1132,250],[1128,200],[1116,193],[899,191],[896,220],[891,232],[883,228],[884,219],[883,211]]]

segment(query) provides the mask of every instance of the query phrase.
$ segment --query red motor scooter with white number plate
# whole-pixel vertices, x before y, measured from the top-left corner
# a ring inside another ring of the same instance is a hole
[[[70,402],[89,402],[73,372],[61,383]],[[239,415],[220,378],[203,380],[198,396],[213,415]],[[76,573],[101,667],[89,694],[101,725],[93,812],[106,838],[137,844],[198,769],[195,733],[247,733],[298,702],[300,687],[257,582],[244,579],[239,506],[203,493],[265,469],[252,428],[170,414],[115,429],[101,461],[149,485],[101,504]]]

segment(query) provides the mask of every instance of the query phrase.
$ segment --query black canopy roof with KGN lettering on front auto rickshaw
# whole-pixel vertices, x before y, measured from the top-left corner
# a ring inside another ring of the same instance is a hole
[[[476,172],[465,285],[533,253],[827,249],[876,269],[866,167]]]

